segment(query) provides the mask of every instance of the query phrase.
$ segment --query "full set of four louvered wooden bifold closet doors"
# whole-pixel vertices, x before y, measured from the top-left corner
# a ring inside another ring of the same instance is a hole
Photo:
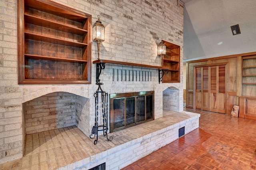
[[[225,65],[195,68],[195,109],[226,113]]]

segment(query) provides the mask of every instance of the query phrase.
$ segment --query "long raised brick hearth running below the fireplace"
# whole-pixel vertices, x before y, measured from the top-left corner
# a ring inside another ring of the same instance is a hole
[[[164,110],[164,117],[100,136],[96,145],[77,127],[65,127],[26,136],[24,157],[0,164],[0,169],[89,169],[106,162],[120,169],[199,127],[199,114]]]

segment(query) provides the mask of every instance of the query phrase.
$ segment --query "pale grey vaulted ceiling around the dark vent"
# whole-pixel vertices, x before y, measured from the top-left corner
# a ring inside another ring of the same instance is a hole
[[[181,0],[184,60],[256,51],[256,0]],[[241,34],[230,26],[239,24]]]

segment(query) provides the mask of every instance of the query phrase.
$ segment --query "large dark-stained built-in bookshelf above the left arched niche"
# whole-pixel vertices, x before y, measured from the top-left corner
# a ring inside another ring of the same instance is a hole
[[[91,83],[92,16],[50,0],[18,0],[18,83]]]

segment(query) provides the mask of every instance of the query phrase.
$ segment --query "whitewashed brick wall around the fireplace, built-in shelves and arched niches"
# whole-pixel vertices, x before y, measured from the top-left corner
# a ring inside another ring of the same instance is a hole
[[[139,2],[135,0],[54,1],[91,14],[92,24],[96,22],[97,15],[101,15],[102,24],[106,26],[106,40],[101,44],[101,59],[160,66],[156,49],[162,38],[180,45],[180,61],[183,61],[183,8],[178,6],[176,0],[170,0],[168,3],[164,0],[157,2],[149,0]],[[81,117],[86,119],[88,127],[81,130],[90,133],[95,118],[93,93],[97,86],[94,64],[92,64],[91,85],[18,85],[17,1],[1,1],[0,4],[2,11],[0,13],[0,163],[3,163],[22,156],[20,151],[24,145],[22,103],[54,92],[67,92],[85,97],[85,100],[88,100],[85,108],[89,115]],[[96,58],[97,45],[93,42],[92,61]],[[123,66],[106,66],[100,79],[104,83],[102,88],[109,94],[154,90],[156,119],[162,117],[163,91],[173,86],[179,89],[179,110],[182,111],[183,62],[180,62],[180,83],[158,84],[158,71],[151,69],[152,81],[150,82],[113,82],[113,68],[131,69]],[[145,68],[140,70],[148,71]],[[15,138],[17,141],[10,142],[8,140],[10,138]]]

